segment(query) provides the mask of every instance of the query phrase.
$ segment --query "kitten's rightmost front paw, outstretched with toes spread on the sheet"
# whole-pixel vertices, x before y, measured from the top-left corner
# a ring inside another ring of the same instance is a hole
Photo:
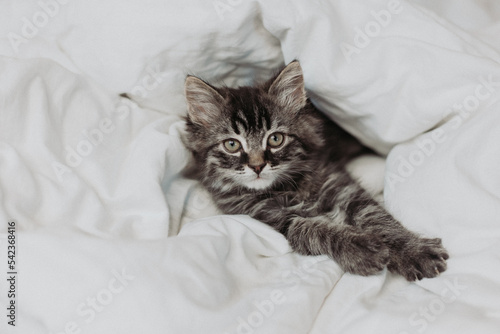
[[[438,276],[446,270],[448,252],[441,239],[418,238],[405,244],[402,250],[391,250],[387,268],[408,281]]]

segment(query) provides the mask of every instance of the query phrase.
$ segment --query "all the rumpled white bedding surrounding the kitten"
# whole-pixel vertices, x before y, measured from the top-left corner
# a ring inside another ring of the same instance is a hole
[[[500,331],[495,0],[4,1],[0,31],[1,333]],[[440,277],[344,274],[181,176],[186,74],[250,84],[293,59],[388,154],[354,172],[443,239]]]

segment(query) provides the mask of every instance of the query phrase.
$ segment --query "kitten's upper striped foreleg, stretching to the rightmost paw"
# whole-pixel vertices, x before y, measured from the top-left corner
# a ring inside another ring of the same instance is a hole
[[[391,272],[413,281],[435,277],[446,270],[448,253],[441,239],[422,238],[406,229],[347,173],[329,181],[322,191],[322,205],[342,210],[349,224],[381,237],[390,249],[387,267]]]

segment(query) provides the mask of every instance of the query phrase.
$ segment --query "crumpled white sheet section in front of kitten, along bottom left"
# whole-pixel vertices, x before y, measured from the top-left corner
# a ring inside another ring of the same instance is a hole
[[[7,332],[305,333],[342,273],[289,253],[277,234],[246,216],[155,241],[19,232],[19,313]]]

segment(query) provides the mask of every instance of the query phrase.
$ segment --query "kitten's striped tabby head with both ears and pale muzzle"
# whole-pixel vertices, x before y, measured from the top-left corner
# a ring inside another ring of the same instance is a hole
[[[256,87],[216,88],[189,76],[187,147],[203,182],[221,191],[267,190],[310,172],[324,145],[297,61]]]

